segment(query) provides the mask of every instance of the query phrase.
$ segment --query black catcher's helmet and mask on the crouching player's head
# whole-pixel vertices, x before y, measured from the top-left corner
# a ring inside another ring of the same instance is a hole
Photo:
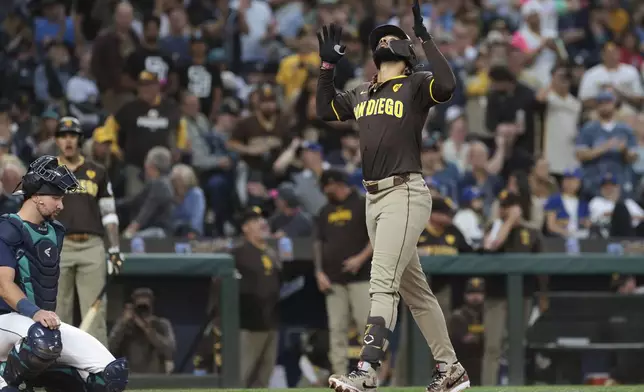
[[[51,155],[33,161],[20,184],[22,190],[14,194],[24,195],[25,200],[33,195],[62,196],[82,188],[74,173],[67,166],[58,165],[58,158]]]

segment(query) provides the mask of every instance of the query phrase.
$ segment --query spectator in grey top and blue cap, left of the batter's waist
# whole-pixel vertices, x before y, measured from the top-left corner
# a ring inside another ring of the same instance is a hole
[[[299,154],[303,170],[292,178],[295,192],[300,198],[300,204],[304,211],[311,216],[316,216],[320,209],[327,204],[320,179],[322,173],[330,169],[330,165],[324,161],[322,146],[318,143],[302,143]]]

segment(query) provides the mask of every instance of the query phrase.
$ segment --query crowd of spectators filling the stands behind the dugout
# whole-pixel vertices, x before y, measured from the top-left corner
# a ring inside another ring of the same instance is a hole
[[[395,24],[413,36],[406,0],[3,4],[0,212],[19,205],[12,192],[26,165],[58,153],[58,119],[71,115],[83,126],[83,155],[108,171],[128,240],[242,234],[259,241],[255,222],[263,216],[276,239],[324,242],[319,217],[347,219],[332,217],[327,205],[349,203],[364,189],[356,127],[316,116],[315,33],[323,24],[344,27],[338,90],[374,75],[367,47],[374,27]],[[511,219],[533,239],[641,236],[644,3],[432,0],[422,12],[457,77],[454,96],[431,110],[423,131],[423,175],[437,200],[419,244],[425,254],[455,248],[455,238],[457,251],[500,250],[496,233]],[[436,246],[429,238],[443,230],[453,235]],[[536,252],[538,242],[507,251]],[[346,284],[343,274],[364,281],[365,245],[353,247],[355,257],[336,271],[340,280],[320,265],[320,290]],[[463,292],[466,304],[482,301],[473,295],[483,287],[478,280],[437,281],[434,291],[443,283],[459,287],[445,296],[450,301]],[[352,316],[356,326],[364,319]],[[277,345],[272,335],[246,338]],[[333,344],[342,349],[346,339]],[[499,358],[486,363],[498,366]],[[342,358],[332,365],[346,367]]]

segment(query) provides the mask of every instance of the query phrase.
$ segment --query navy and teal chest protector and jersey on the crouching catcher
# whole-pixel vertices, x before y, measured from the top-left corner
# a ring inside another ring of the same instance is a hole
[[[57,221],[35,225],[16,214],[0,216],[0,267],[15,270],[15,283],[41,309],[56,309],[64,232]],[[0,313],[13,311],[0,299]]]

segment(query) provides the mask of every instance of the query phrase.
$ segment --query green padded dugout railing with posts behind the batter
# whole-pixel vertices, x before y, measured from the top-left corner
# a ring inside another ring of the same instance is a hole
[[[310,251],[298,252],[299,260],[310,258]],[[508,288],[508,378],[511,385],[525,383],[525,325],[523,303],[524,275],[644,274],[642,256],[607,254],[566,255],[541,253],[458,255],[421,257],[427,275],[507,275]],[[222,329],[222,371],[219,376],[191,375],[133,377],[132,386],[143,388],[239,386],[239,300],[238,282],[232,258],[227,254],[129,254],[123,270],[125,278],[209,278],[219,277],[219,303]],[[180,293],[175,293],[180,295]],[[183,298],[186,304],[190,298]],[[115,301],[119,302],[119,301]],[[204,313],[195,308],[195,312]],[[409,315],[408,315],[409,316]],[[404,380],[407,385],[424,385],[429,377],[431,354],[413,321],[407,322],[405,334]]]

